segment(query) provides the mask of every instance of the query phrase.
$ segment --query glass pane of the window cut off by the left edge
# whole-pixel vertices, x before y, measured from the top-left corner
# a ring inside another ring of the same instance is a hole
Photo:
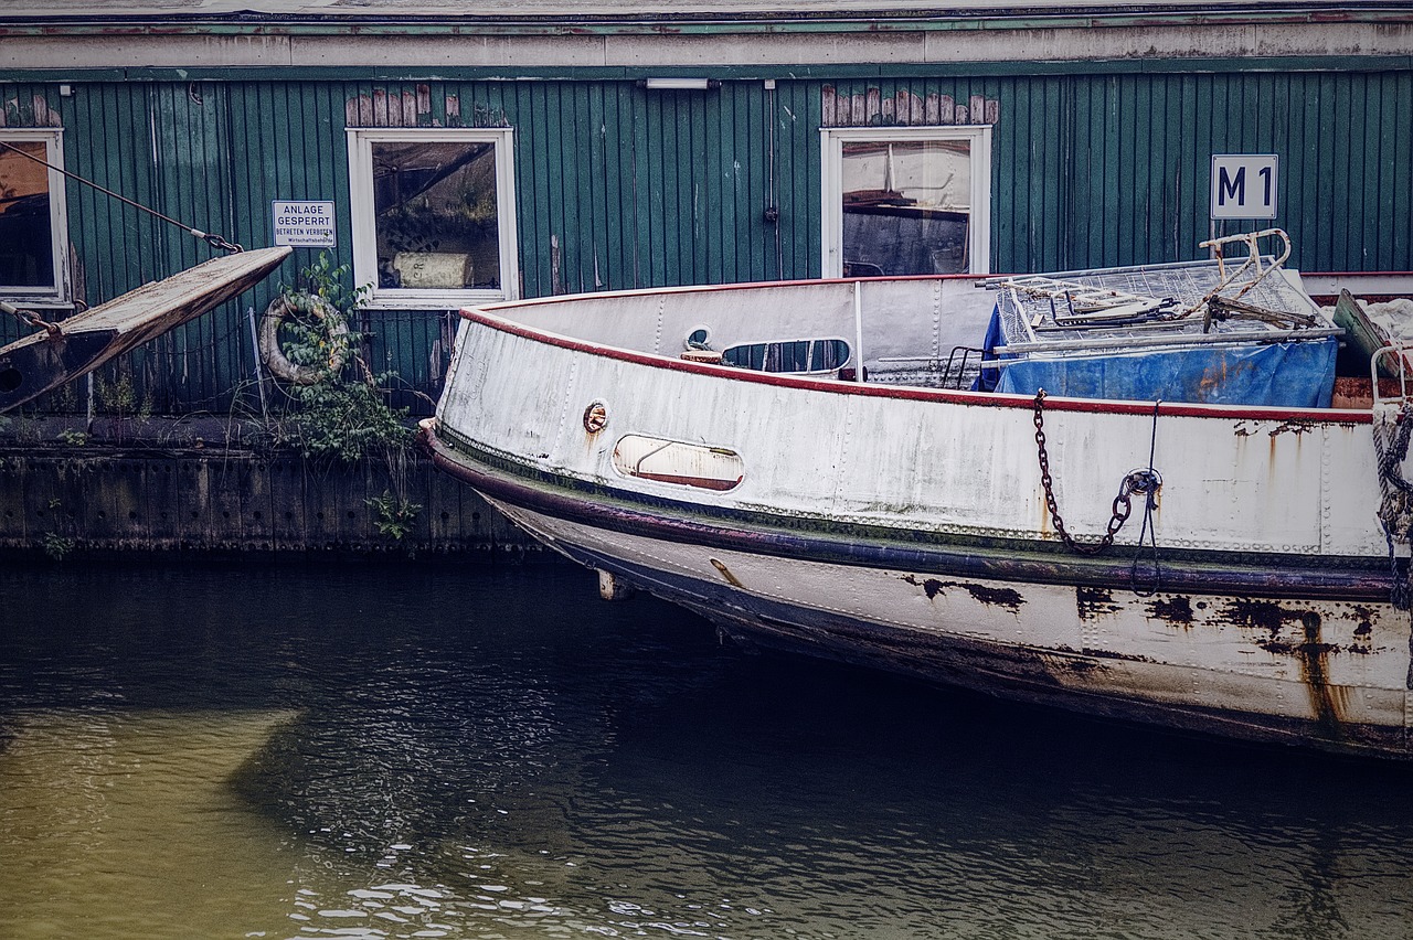
[[[52,162],[42,140],[6,140]],[[42,164],[0,147],[0,287],[57,289],[49,172]]]

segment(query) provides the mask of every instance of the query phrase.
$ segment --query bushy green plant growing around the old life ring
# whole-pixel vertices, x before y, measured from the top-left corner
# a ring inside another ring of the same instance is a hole
[[[353,462],[404,450],[411,429],[406,409],[387,404],[386,385],[396,374],[374,374],[362,351],[366,337],[350,329],[372,287],[348,289],[348,274],[346,264],[335,267],[321,251],[295,287],[281,288],[291,311],[280,327],[284,356],[309,367],[312,381],[285,388],[290,408],[280,415],[277,438],[308,456]]]

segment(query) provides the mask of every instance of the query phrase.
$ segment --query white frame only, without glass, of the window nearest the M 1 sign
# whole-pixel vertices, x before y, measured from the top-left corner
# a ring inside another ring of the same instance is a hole
[[[971,144],[971,219],[968,222],[968,274],[991,274],[991,126],[945,127],[821,127],[822,206],[820,270],[827,278],[844,277],[844,144],[849,141],[944,141]]]

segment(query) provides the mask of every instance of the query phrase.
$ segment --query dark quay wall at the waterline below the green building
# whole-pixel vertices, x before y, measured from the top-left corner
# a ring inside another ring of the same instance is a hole
[[[398,536],[379,501],[396,510],[403,500],[418,508]],[[0,550],[554,556],[421,454],[394,469],[298,453],[92,443],[0,445]]]

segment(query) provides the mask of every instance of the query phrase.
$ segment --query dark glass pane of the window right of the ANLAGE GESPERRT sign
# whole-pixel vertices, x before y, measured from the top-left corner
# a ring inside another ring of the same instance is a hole
[[[499,289],[496,145],[373,141],[383,288]]]

